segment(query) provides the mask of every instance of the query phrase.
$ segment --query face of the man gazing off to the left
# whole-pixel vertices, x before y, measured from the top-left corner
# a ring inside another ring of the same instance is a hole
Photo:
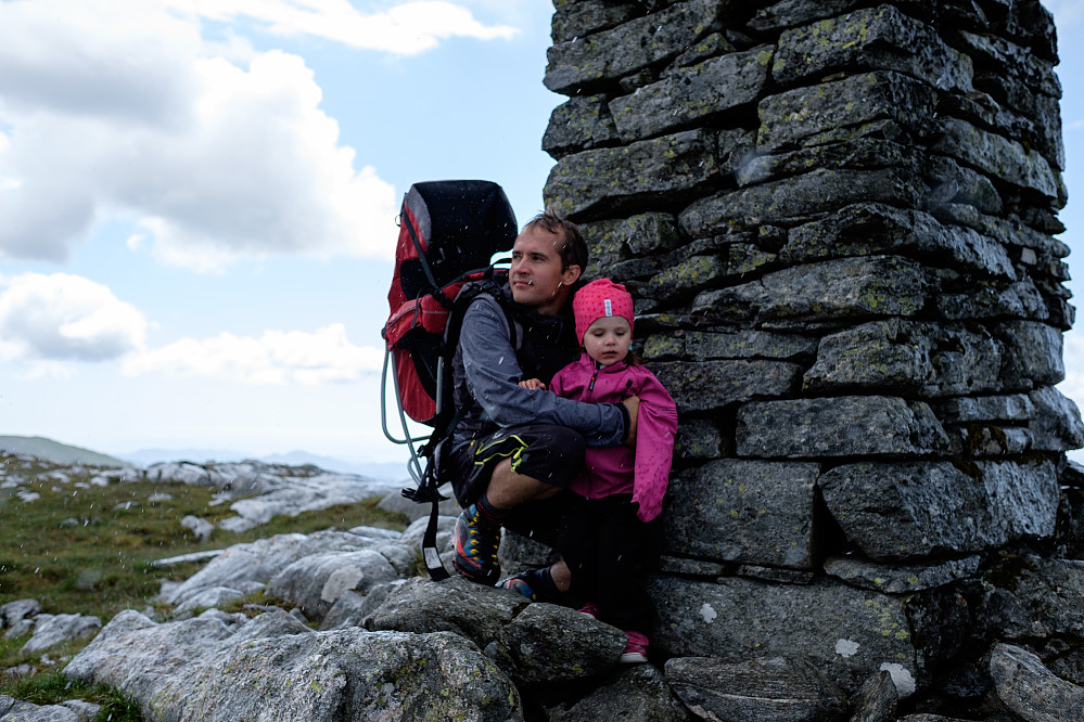
[[[579,278],[579,267],[562,269],[564,238],[538,224],[526,228],[512,245],[509,280],[517,304],[537,308],[539,313],[557,313]]]

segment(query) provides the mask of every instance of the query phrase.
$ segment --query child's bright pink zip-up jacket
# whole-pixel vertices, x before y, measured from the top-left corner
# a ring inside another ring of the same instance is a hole
[[[594,403],[618,403],[640,398],[636,450],[628,447],[588,449],[584,473],[572,490],[587,499],[629,493],[640,507],[637,516],[650,521],[662,511],[674,461],[677,405],[654,374],[639,365],[614,363],[604,368],[587,353],[559,371],[550,384],[558,396]]]

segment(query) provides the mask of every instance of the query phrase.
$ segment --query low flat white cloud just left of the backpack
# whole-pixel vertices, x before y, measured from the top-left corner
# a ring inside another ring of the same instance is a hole
[[[356,381],[379,371],[383,359],[383,350],[355,346],[343,324],[332,323],[314,333],[267,331],[259,338],[230,333],[184,338],[126,359],[124,372],[313,386]]]

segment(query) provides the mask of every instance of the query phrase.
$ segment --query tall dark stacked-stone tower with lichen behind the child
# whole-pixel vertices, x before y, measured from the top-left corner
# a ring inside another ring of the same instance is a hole
[[[1084,591],[1077,563],[1008,562],[1053,556],[1084,444],[1054,388],[1073,308],[1049,13],[554,5],[546,202],[582,223],[587,275],[633,292],[681,417],[653,643],[909,694],[1042,636],[990,617],[1047,564]],[[1084,639],[1057,616],[1046,659]]]

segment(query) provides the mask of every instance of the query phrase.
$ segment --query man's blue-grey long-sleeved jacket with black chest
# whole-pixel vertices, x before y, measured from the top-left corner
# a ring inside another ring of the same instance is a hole
[[[510,298],[508,287],[505,297]],[[512,304],[511,300],[507,301]],[[518,424],[558,424],[579,431],[589,447],[615,447],[626,436],[620,404],[584,403],[519,386],[550,378],[578,357],[571,315],[543,315],[512,304],[517,347],[507,317],[488,295],[479,296],[463,317],[454,361],[456,407],[464,409],[455,443]]]

